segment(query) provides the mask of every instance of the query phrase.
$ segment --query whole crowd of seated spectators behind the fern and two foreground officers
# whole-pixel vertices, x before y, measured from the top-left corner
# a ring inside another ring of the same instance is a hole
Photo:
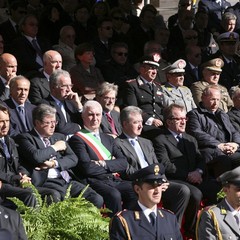
[[[236,7],[179,0],[164,23],[151,4],[136,15],[131,0],[7,2],[1,205],[15,208],[6,197],[16,196],[35,206],[22,182],[49,204],[88,183],[86,199],[111,217],[136,201],[130,175],[159,162],[170,181],[163,207],[179,225],[185,214],[191,239],[200,202],[216,203],[217,177],[240,165]]]

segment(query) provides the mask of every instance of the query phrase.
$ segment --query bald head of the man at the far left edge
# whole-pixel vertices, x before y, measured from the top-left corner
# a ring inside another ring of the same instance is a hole
[[[10,53],[3,53],[0,56],[0,75],[9,81],[17,73],[17,59]]]

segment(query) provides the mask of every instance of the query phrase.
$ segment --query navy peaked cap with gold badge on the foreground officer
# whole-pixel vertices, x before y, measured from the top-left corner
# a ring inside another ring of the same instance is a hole
[[[131,180],[135,182],[146,182],[158,185],[167,182],[164,173],[165,168],[162,164],[152,164],[131,175]]]

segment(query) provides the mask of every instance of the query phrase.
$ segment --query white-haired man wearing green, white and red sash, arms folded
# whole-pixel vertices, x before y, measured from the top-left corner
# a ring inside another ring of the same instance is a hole
[[[87,179],[112,211],[109,216],[113,216],[123,208],[130,208],[137,198],[131,182],[121,179],[128,166],[127,159],[111,136],[99,133],[101,119],[102,106],[97,101],[87,101],[82,111],[84,127],[69,139],[69,144],[78,157],[73,171]]]

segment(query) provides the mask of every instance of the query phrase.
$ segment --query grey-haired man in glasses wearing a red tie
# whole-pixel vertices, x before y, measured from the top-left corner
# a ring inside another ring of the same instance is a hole
[[[97,90],[96,99],[103,108],[101,130],[114,138],[121,134],[120,114],[114,110],[117,99],[118,86],[104,82]]]

